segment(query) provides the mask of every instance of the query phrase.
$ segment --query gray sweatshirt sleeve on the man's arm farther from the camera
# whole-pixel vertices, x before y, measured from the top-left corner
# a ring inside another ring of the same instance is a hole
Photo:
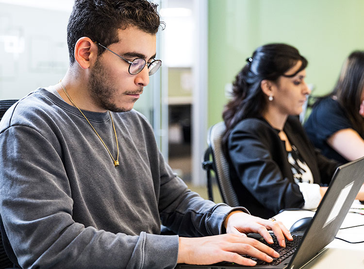
[[[161,158],[161,192],[159,211],[162,224],[183,237],[219,235],[226,216],[235,209],[249,213],[245,207],[231,207],[205,200],[187,186]]]

